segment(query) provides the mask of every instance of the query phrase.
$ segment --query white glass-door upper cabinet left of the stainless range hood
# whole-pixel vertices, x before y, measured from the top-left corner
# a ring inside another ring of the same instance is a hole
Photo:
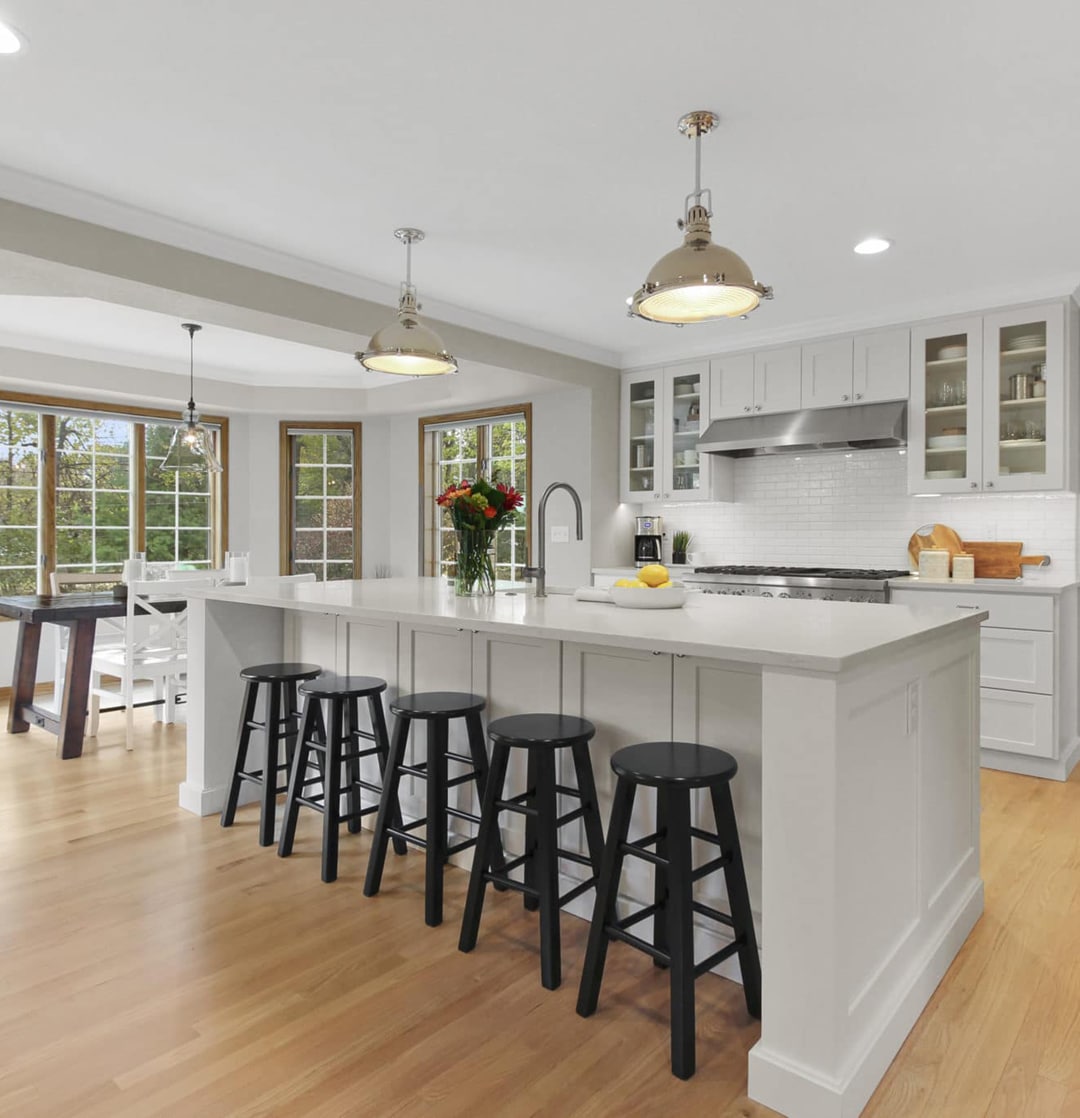
[[[731,463],[698,452],[709,390],[708,361],[623,377],[624,501],[731,500]]]

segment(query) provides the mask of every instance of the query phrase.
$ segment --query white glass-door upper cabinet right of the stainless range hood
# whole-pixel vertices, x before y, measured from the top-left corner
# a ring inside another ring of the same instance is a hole
[[[1064,334],[1061,304],[912,332],[912,493],[1067,486]]]

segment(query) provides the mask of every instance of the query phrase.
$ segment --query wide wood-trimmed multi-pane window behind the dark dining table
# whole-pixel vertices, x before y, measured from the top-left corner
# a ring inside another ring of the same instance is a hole
[[[228,420],[203,423],[226,472],[167,474],[176,413],[0,395],[0,593],[44,594],[54,570],[119,574],[133,551],[220,566]]]

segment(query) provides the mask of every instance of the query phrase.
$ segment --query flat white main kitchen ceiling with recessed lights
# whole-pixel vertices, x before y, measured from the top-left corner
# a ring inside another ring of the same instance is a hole
[[[391,230],[418,225],[429,312],[626,363],[1080,280],[1070,0],[0,0],[0,18],[30,39],[0,59],[11,168],[386,285]],[[676,331],[624,306],[678,243],[674,122],[697,107],[722,116],[717,239],[776,299]],[[871,233],[894,248],[855,256]]]

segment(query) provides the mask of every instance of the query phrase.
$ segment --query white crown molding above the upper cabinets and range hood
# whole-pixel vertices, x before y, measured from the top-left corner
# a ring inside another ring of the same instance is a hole
[[[915,322],[932,322],[936,319],[950,319],[963,314],[983,313],[997,309],[1023,306],[1025,303],[1044,303],[1048,300],[1073,299],[1080,303],[1080,273],[1036,281],[1025,284],[1008,284],[1000,287],[986,287],[978,291],[964,292],[948,299],[922,300],[908,304],[897,304],[875,311],[873,314],[837,315],[832,319],[815,319],[807,322],[796,322],[778,329],[735,329],[724,331],[721,335],[710,324],[689,326],[682,330],[670,328],[670,333],[686,335],[686,338],[670,339],[652,345],[641,345],[623,353],[620,368],[624,372],[635,369],[647,369],[657,364],[675,364],[695,358],[712,357],[719,353],[738,353],[751,349],[768,349],[773,345],[790,345],[795,342],[815,341],[831,338],[835,334],[860,333],[865,330],[881,330],[889,326],[903,326]],[[767,307],[762,307],[767,313]],[[758,311],[757,314],[762,313]],[[755,318],[746,322],[736,320],[729,323],[740,328],[756,325]],[[647,326],[648,323],[643,323]],[[723,324],[720,324],[721,329]]]

